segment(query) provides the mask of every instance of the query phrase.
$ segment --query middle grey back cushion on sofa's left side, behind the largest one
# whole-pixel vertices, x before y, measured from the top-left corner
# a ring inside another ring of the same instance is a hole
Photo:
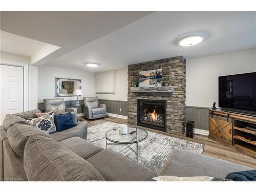
[[[7,131],[7,138],[12,150],[20,157],[23,157],[25,144],[32,135],[41,135],[50,138],[50,135],[47,132],[36,129],[36,127],[32,125],[26,124],[17,123],[9,127]]]

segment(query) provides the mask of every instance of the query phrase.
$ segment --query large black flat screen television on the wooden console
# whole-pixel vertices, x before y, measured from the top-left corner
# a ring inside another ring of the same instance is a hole
[[[219,107],[256,116],[256,72],[219,77]]]

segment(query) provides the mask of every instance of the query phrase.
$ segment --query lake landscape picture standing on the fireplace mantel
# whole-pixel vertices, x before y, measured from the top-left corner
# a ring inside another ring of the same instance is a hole
[[[140,71],[139,87],[162,86],[162,69]]]

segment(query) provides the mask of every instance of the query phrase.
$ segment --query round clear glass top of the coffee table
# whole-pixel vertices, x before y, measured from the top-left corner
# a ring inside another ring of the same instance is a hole
[[[139,127],[131,127],[128,126],[128,134],[121,135],[119,133],[120,128],[117,130],[109,130],[105,133],[105,137],[107,140],[114,142],[114,143],[121,143],[121,144],[130,144],[130,143],[138,143],[143,141],[147,137],[147,132]],[[132,131],[136,131],[134,134],[130,134]]]

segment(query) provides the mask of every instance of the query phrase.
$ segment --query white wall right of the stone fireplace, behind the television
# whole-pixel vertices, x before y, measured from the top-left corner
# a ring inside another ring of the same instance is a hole
[[[186,60],[186,105],[218,106],[218,77],[256,72],[256,49]]]

